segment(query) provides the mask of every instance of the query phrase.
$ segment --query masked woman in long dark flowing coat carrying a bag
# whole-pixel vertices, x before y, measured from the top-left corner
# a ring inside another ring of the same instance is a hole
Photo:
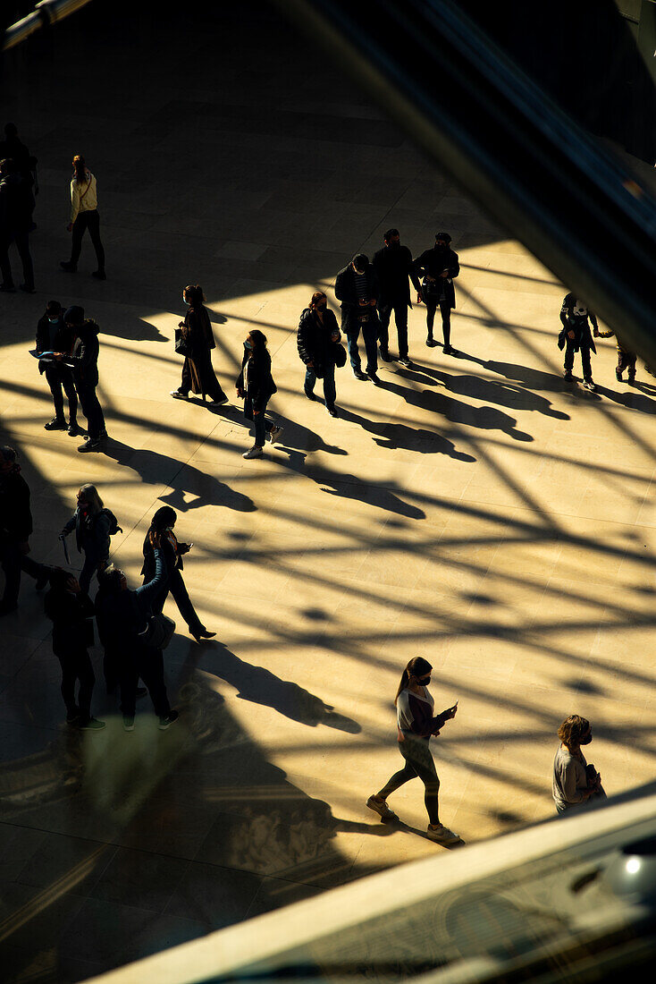
[[[201,394],[209,406],[221,406],[228,398],[214,375],[211,366],[211,349],[215,347],[211,331],[205,295],[200,283],[189,283],[182,292],[187,305],[184,321],[178,325],[185,345],[185,361],[182,366],[182,382],[177,390],[171,390],[174,400],[189,400],[189,391]]]

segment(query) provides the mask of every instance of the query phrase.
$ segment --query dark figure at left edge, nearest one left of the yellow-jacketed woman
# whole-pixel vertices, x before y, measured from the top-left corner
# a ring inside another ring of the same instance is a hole
[[[30,225],[34,197],[27,179],[11,158],[0,160],[0,290],[13,292],[14,279],[9,247],[14,242],[23,263],[21,290],[34,292],[34,268],[30,256]]]

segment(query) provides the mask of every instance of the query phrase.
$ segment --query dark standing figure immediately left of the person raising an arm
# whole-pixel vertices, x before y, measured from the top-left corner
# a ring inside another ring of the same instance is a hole
[[[89,646],[93,645],[93,602],[72,574],[55,568],[50,572],[50,590],[43,598],[43,607],[52,622],[52,651],[62,668],[66,723],[83,731],[99,731],[104,728],[104,721],[91,714],[95,684],[89,659]]]

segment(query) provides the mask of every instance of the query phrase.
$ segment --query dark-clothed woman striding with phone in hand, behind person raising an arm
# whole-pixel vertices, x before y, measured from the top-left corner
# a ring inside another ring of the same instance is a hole
[[[173,532],[177,518],[175,510],[171,509],[170,506],[162,506],[152,517],[149,531],[144,539],[144,566],[142,567],[142,576],[144,578],[144,584],[148,584],[154,577],[154,550],[152,549],[150,533],[156,533],[159,537],[164,558],[167,581],[162,586],[159,594],[153,599],[152,611],[153,613],[162,611],[164,602],[170,591],[178,606],[178,611],[187,623],[190,634],[197,643],[200,643],[202,639],[211,639],[216,633],[208,632],[203,625],[187,592],[187,587],[182,577],[182,557],[184,554],[189,553],[194,544],[182,543],[177,539]]]

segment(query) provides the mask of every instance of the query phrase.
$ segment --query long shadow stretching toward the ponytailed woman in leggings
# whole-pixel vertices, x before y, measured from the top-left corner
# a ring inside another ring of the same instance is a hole
[[[293,721],[300,721],[313,728],[324,724],[328,728],[349,734],[359,734],[362,730],[357,721],[338,713],[321,698],[315,697],[297,683],[281,680],[264,666],[247,663],[223,643],[205,646],[200,653],[198,646],[192,646],[186,662],[187,671],[190,664],[225,680],[238,691],[237,697],[240,700],[273,707]]]

